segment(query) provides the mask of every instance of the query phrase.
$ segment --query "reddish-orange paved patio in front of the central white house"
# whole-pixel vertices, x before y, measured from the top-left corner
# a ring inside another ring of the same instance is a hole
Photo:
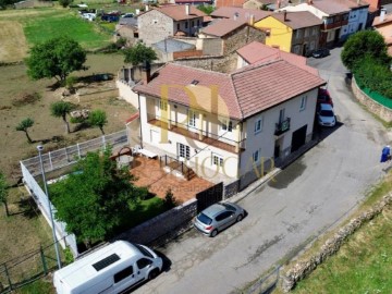
[[[137,177],[136,186],[148,186],[148,191],[157,194],[160,198],[164,198],[167,191],[171,188],[175,199],[180,203],[185,203],[194,198],[197,193],[213,186],[212,183],[197,175],[187,181],[168,174],[163,171],[163,167],[160,167],[159,159],[142,156],[134,158],[130,171]]]

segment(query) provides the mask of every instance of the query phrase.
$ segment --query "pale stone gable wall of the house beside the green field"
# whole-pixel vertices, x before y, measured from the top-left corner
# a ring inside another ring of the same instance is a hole
[[[174,34],[173,20],[157,10],[138,16],[139,39],[146,45],[163,40]]]

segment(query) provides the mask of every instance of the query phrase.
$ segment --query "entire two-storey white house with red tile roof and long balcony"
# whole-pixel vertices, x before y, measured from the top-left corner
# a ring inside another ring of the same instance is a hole
[[[144,148],[245,187],[310,139],[324,84],[283,60],[232,74],[167,64],[134,87]]]

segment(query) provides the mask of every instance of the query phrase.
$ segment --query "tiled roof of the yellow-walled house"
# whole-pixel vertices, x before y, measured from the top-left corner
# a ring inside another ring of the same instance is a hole
[[[315,16],[308,11],[286,12],[285,19],[283,12],[273,13],[271,14],[271,17],[280,21],[281,23],[287,25],[293,29],[311,27],[322,24],[322,21],[319,17]]]

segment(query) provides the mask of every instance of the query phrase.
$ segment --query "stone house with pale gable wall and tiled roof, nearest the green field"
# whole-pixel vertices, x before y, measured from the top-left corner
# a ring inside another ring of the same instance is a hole
[[[151,45],[173,36],[194,36],[206,14],[195,7],[168,5],[149,9],[137,16],[138,37]]]

